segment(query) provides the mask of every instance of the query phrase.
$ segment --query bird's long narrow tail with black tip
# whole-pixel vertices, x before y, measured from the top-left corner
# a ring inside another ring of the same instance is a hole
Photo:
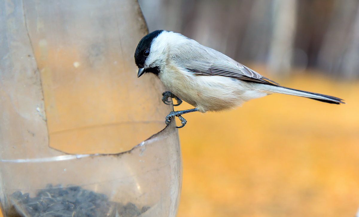
[[[327,103],[334,103],[334,104],[344,103],[345,104],[345,102],[343,102],[341,98],[329,96],[329,95],[325,95],[325,94],[313,93],[313,92],[309,92],[309,91],[301,91],[301,90],[293,89],[293,88],[289,88],[289,87],[282,87],[282,86],[275,86],[275,85],[268,85],[268,84],[258,84],[258,86],[260,87],[261,91],[266,91],[266,92],[271,92],[271,93],[284,93],[284,94],[289,94],[289,95],[293,95],[293,96],[301,96],[301,97],[306,97],[306,98],[318,100],[321,102],[327,102]]]

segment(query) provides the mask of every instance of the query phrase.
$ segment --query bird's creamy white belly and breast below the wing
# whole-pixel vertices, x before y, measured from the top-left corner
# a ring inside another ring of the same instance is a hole
[[[222,76],[198,76],[178,67],[160,73],[164,86],[200,112],[236,108],[248,100],[266,96],[255,83],[243,82]]]

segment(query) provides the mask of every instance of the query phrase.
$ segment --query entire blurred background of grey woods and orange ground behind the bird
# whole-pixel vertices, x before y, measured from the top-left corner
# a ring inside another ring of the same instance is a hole
[[[355,216],[358,0],[139,2],[149,31],[180,32],[283,86],[347,103],[273,94],[186,114],[178,217]]]

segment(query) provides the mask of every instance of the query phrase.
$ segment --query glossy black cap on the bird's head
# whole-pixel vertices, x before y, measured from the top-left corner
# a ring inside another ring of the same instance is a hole
[[[135,63],[138,68],[143,68],[147,56],[143,55],[145,50],[150,50],[152,41],[164,30],[156,30],[146,34],[141,41],[138,43],[135,51]]]

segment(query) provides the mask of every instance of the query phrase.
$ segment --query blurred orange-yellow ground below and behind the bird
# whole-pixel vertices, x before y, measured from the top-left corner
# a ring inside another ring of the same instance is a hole
[[[275,80],[347,104],[272,94],[228,112],[183,115],[178,217],[355,216],[359,82],[303,74]]]

